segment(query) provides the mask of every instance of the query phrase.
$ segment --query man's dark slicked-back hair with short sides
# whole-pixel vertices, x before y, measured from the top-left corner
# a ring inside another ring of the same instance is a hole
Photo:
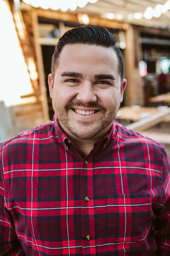
[[[52,77],[54,77],[55,70],[59,63],[61,50],[66,44],[95,44],[98,46],[112,47],[115,50],[119,61],[118,72],[120,73],[122,82],[124,78],[125,63],[119,47],[116,46],[116,42],[115,35],[111,34],[103,27],[84,26],[68,30],[62,37],[60,37],[52,55]]]

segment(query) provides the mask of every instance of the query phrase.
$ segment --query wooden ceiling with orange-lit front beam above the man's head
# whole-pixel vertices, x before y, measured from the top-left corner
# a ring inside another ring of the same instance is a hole
[[[8,0],[10,1],[10,0]],[[56,0],[56,1],[62,1],[62,0]],[[169,0],[170,1],[170,0]],[[66,17],[66,20],[73,20],[75,21],[75,16],[77,17],[78,13],[86,13],[90,17],[90,21],[92,19],[98,19],[100,18],[101,26],[105,26],[104,23],[111,23],[111,26],[114,26],[114,23],[119,24],[119,22],[124,23],[131,23],[135,25],[145,26],[145,27],[155,27],[155,28],[164,28],[170,32],[170,10],[166,13],[162,13],[162,15],[159,18],[153,17],[151,20],[147,20],[146,18],[142,17],[140,20],[137,20],[135,18],[132,18],[131,20],[128,19],[128,15],[131,14],[134,15],[135,12],[139,12],[144,14],[147,7],[155,8],[157,4],[165,4],[166,0],[98,0],[95,4],[87,4],[85,7],[80,8],[78,7],[75,11],[68,10],[67,12],[62,12],[61,10],[58,11],[52,11],[50,9],[48,10],[42,10],[41,8],[34,8],[38,12],[38,15],[42,16],[51,16],[51,18],[59,18],[61,16],[61,20],[64,20],[64,17]],[[26,5],[23,1],[21,1],[21,9],[25,9]],[[123,15],[123,20],[117,20],[117,19],[107,19],[103,18],[103,13],[113,13],[114,15],[121,14]],[[67,16],[69,18],[67,19]],[[74,17],[73,17],[74,16]],[[77,18],[76,18],[77,19]],[[78,19],[77,19],[78,21]],[[81,23],[81,22],[80,22]],[[102,25],[103,24],[103,25]],[[117,25],[118,26],[118,25]]]

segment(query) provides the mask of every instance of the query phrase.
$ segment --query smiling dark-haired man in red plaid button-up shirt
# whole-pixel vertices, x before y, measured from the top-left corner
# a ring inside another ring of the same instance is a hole
[[[126,86],[115,43],[100,27],[66,32],[53,122],[1,144],[0,255],[170,255],[170,163],[113,121]]]

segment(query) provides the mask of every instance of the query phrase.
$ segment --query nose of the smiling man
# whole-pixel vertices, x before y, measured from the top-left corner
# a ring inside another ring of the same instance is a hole
[[[79,92],[77,94],[77,100],[84,103],[96,102],[97,96],[94,90],[94,86],[91,82],[84,82],[79,87]]]

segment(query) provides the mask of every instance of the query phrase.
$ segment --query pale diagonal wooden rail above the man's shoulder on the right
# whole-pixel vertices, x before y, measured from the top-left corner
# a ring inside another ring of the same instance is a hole
[[[151,117],[142,119],[140,121],[137,121],[135,123],[129,124],[126,126],[128,129],[134,130],[136,132],[142,132],[144,130],[147,130],[148,128],[154,126],[155,124],[158,124],[162,121],[164,121],[165,117],[170,115],[170,109],[157,113]]]

